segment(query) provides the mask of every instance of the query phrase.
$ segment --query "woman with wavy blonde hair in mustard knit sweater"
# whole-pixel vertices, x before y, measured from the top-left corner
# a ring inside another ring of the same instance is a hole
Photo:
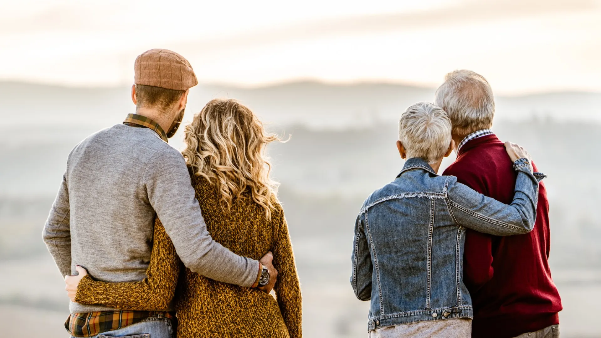
[[[177,337],[301,337],[301,289],[276,183],[269,179],[264,156],[266,144],[276,139],[266,135],[246,106],[215,99],[186,126],[183,151],[213,239],[253,259],[273,252],[275,298],[180,268],[157,220],[147,278],[105,283],[85,275],[75,301],[120,310],[166,310],[175,293]]]

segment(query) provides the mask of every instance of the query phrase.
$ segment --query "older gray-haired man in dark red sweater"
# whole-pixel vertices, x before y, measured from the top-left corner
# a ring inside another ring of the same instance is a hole
[[[511,203],[516,172],[490,130],[495,102],[483,76],[448,73],[436,105],[453,123],[457,160],[444,175],[503,203]],[[536,171],[536,167],[534,166]],[[549,269],[549,203],[540,184],[534,230],[498,237],[466,231],[463,280],[474,304],[472,337],[559,337],[561,299]]]

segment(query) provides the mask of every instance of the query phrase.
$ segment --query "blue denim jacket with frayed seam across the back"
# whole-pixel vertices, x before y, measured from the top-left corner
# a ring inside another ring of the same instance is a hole
[[[517,173],[511,205],[438,176],[420,158],[408,159],[397,178],[365,200],[355,224],[350,282],[359,300],[371,300],[368,331],[423,321],[472,318],[462,281],[465,228],[497,236],[534,227],[538,182],[528,160]]]

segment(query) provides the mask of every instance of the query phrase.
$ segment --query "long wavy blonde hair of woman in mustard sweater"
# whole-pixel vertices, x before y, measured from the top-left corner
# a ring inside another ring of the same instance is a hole
[[[252,200],[271,218],[278,183],[269,177],[271,164],[264,149],[279,137],[266,134],[251,109],[234,99],[213,99],[186,126],[184,140],[188,168],[217,185],[224,211],[249,189]]]

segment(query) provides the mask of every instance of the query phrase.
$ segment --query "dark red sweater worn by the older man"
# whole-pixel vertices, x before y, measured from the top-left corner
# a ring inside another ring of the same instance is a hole
[[[516,172],[495,135],[468,141],[444,174],[503,203],[513,199]],[[542,183],[532,232],[499,237],[467,230],[463,281],[474,304],[472,337],[510,338],[559,324],[562,307],[551,279],[549,242]]]

